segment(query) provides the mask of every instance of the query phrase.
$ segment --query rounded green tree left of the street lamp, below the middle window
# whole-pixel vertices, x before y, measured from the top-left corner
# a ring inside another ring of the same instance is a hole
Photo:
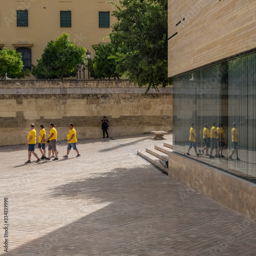
[[[76,67],[84,63],[86,49],[76,46],[69,40],[69,35],[63,33],[55,41],[48,42],[32,74],[37,79],[63,79],[76,76]]]

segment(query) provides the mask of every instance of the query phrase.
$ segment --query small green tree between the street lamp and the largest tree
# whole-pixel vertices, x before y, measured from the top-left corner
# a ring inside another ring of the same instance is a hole
[[[118,62],[120,61],[116,53],[120,50],[116,45],[110,43],[98,45],[98,47],[92,46],[96,52],[94,59],[89,63],[91,77],[98,78],[118,78],[119,73],[116,70]]]

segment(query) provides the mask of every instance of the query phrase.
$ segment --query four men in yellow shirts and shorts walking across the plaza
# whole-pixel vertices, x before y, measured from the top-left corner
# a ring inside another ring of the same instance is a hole
[[[40,134],[39,134],[39,143],[38,143],[38,149],[40,153],[42,154],[41,158],[37,156],[35,153],[35,144],[36,144],[36,131],[35,131],[35,125],[31,123],[30,125],[30,132],[24,132],[28,133],[27,143],[26,146],[28,146],[28,161],[25,163],[31,163],[31,155],[34,155],[36,157],[36,163],[38,163],[41,160],[51,160],[51,152],[54,155],[53,161],[58,160],[58,151],[56,148],[56,142],[57,142],[57,130],[55,129],[54,123],[50,123],[50,133],[48,137],[46,137],[46,130],[44,128],[44,124],[40,125]],[[79,151],[76,147],[76,130],[74,129],[73,123],[69,124],[69,132],[68,132],[68,148],[67,148],[67,154],[64,155],[64,158],[69,157],[69,153],[71,148],[76,151],[77,156],[80,157]],[[48,143],[48,157],[46,157],[46,143]]]

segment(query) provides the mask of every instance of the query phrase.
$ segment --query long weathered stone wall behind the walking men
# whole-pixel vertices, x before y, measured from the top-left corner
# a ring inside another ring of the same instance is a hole
[[[145,90],[127,80],[1,80],[0,145],[25,143],[30,123],[39,134],[41,123],[49,133],[53,122],[58,140],[67,139],[70,122],[78,139],[100,138],[104,115],[111,137],[172,130],[172,88]]]

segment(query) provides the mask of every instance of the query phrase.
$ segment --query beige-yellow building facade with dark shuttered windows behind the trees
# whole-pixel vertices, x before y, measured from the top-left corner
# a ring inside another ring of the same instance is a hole
[[[104,0],[2,0],[0,49],[22,52],[24,65],[37,64],[47,42],[63,32],[77,46],[91,52],[92,45],[109,41],[115,7]],[[115,1],[114,1],[115,2]],[[26,62],[26,63],[25,63]],[[87,74],[87,72],[86,72]],[[33,76],[31,76],[33,78]]]

